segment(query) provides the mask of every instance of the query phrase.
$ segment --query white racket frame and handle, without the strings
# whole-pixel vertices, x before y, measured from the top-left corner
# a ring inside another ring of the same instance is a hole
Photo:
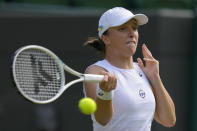
[[[24,93],[24,91],[20,88],[20,85],[16,79],[16,73],[15,73],[15,63],[16,63],[16,59],[17,59],[17,56],[24,50],[27,50],[27,49],[39,49],[41,51],[44,51],[46,54],[48,54],[49,56],[51,56],[55,63],[58,65],[59,69],[60,69],[60,72],[61,72],[61,88],[60,90],[58,91],[58,93],[52,97],[51,99],[48,99],[48,100],[36,100],[36,99],[33,99],[31,97],[29,97],[27,94]],[[72,80],[70,81],[69,83],[65,84],[65,74],[64,74],[64,70],[69,72],[70,74],[72,75],[75,75],[75,76],[78,76],[79,78],[78,79],[75,79],[75,80]],[[69,66],[67,66],[64,62],[62,62],[59,57],[57,57],[57,55],[55,55],[52,51],[50,51],[49,49],[45,48],[45,47],[42,47],[42,46],[39,46],[39,45],[28,45],[28,46],[24,46],[24,47],[21,47],[19,48],[16,52],[15,52],[15,55],[13,57],[13,62],[12,62],[12,75],[13,75],[13,79],[14,79],[14,82],[15,82],[15,85],[18,89],[18,91],[27,99],[27,100],[30,100],[31,102],[33,103],[36,103],[36,104],[47,104],[47,103],[51,103],[53,101],[55,101],[57,98],[59,98],[62,93],[68,89],[71,85],[73,84],[76,84],[76,83],[79,83],[79,82],[101,82],[104,78],[103,75],[94,75],[94,74],[82,74],[82,73],[79,73],[75,70],[73,70],[72,68],[70,68]]]

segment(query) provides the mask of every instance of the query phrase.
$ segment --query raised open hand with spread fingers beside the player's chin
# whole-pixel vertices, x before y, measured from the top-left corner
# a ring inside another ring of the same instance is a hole
[[[145,44],[142,45],[142,54],[145,65],[140,58],[137,58],[138,65],[143,70],[148,79],[152,80],[156,75],[159,75],[159,62],[152,56]]]

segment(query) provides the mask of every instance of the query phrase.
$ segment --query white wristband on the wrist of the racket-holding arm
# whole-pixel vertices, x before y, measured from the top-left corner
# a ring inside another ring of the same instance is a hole
[[[98,98],[100,98],[101,100],[112,100],[114,92],[113,91],[104,91],[102,89],[100,89],[100,87],[97,87],[96,90],[96,95]]]

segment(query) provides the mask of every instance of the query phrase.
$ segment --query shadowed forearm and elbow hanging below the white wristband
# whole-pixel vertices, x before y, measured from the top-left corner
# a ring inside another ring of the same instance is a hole
[[[94,113],[95,119],[101,125],[106,125],[113,116],[112,100],[101,100],[96,98],[97,110]]]

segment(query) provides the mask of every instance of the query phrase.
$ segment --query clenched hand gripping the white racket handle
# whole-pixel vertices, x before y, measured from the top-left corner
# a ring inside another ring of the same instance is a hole
[[[100,83],[100,88],[104,91],[114,90],[117,85],[116,76],[114,74],[105,71],[102,71],[100,74],[104,75],[104,79]]]

